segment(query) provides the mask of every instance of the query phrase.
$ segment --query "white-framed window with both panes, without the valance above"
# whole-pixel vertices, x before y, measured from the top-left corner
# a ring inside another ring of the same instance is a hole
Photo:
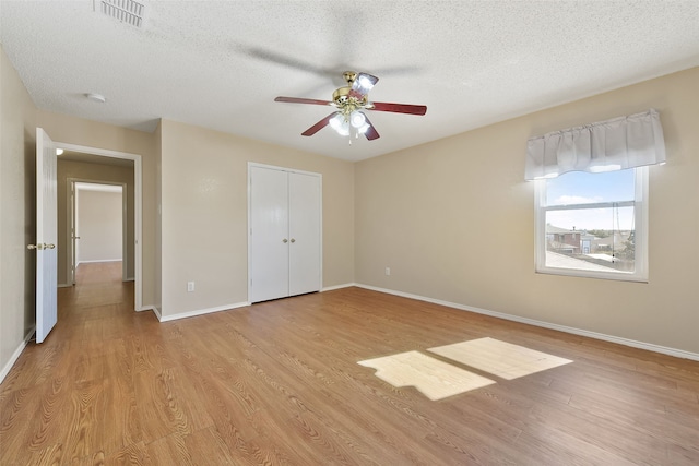
[[[648,167],[535,183],[536,272],[648,280]]]

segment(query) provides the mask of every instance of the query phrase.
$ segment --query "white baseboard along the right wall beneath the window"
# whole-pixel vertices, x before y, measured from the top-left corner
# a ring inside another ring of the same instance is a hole
[[[375,286],[362,285],[362,284],[356,284],[355,286],[359,288],[370,289],[372,291],[386,292],[388,295],[395,295],[403,298],[416,299],[418,301],[425,301],[425,302],[431,302],[434,304],[446,306],[449,308],[458,309],[460,311],[475,312],[477,314],[490,315],[493,318],[503,319],[507,321],[520,322],[523,324],[534,325],[543,328],[556,330],[559,332],[570,333],[573,335],[587,336],[589,338],[601,339],[604,342],[616,343],[619,345],[630,346],[633,348],[640,348],[640,349],[647,349],[649,351],[661,353],[663,355],[675,356],[677,358],[691,359],[695,361],[699,361],[699,354],[685,351],[684,349],[670,348],[666,346],[654,345],[652,343],[645,343],[645,342],[638,342],[635,339],[624,338],[620,336],[606,335],[603,333],[590,332],[582,328],[553,324],[549,322],[537,321],[534,319],[522,318],[519,315],[506,314],[503,312],[495,312],[487,309],[475,308],[472,306],[463,306],[463,304],[458,304],[455,302],[442,301],[441,299],[434,299],[434,298],[427,298],[424,296],[412,295],[410,292],[395,291],[393,289],[378,288]]]

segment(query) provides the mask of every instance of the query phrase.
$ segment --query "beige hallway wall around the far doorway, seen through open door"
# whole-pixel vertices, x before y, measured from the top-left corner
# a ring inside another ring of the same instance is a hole
[[[127,277],[134,277],[134,193],[133,193],[133,167],[115,165],[91,164],[83,162],[62,160],[58,158],[58,283],[70,284],[70,254],[72,254],[70,241],[70,178],[79,181],[126,183],[127,196]],[[145,251],[144,251],[145,254]],[[149,304],[152,301],[144,301]]]

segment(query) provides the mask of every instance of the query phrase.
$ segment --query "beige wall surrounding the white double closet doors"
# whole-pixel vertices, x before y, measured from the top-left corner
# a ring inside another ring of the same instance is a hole
[[[353,282],[352,164],[167,120],[161,133],[164,318],[247,301],[248,162],[322,174],[323,286]]]

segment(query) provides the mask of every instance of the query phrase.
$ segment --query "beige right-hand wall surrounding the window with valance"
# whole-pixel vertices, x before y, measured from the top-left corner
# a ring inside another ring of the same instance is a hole
[[[356,282],[699,354],[698,83],[695,68],[357,163]],[[650,107],[668,160],[650,169],[650,282],[535,274],[528,138]]]

